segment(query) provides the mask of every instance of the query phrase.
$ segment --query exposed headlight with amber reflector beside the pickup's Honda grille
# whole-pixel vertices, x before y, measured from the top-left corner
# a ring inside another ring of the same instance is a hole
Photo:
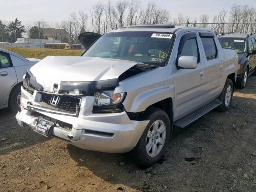
[[[126,93],[114,93],[114,91],[103,91],[95,93],[94,106],[116,105],[124,100]]]

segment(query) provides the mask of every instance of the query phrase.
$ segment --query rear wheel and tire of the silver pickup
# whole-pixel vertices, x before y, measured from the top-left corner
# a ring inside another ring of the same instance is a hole
[[[218,97],[218,99],[222,102],[222,104],[216,108],[218,111],[228,110],[233,98],[233,93],[234,93],[233,82],[231,79],[227,79],[225,82],[224,88],[220,96]]]

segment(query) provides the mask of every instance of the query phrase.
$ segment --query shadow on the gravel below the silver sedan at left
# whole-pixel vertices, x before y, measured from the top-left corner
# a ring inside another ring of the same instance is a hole
[[[36,134],[28,127],[20,127],[15,116],[16,113],[8,108],[0,110],[0,155],[50,139]]]

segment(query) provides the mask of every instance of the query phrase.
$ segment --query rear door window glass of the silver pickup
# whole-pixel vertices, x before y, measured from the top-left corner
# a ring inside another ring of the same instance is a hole
[[[213,37],[202,37],[202,44],[207,60],[211,60],[217,57],[217,48]]]

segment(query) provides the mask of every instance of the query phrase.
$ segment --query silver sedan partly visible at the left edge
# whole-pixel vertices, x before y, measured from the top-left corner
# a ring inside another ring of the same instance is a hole
[[[38,61],[0,48],[0,109],[20,110],[22,77]]]

